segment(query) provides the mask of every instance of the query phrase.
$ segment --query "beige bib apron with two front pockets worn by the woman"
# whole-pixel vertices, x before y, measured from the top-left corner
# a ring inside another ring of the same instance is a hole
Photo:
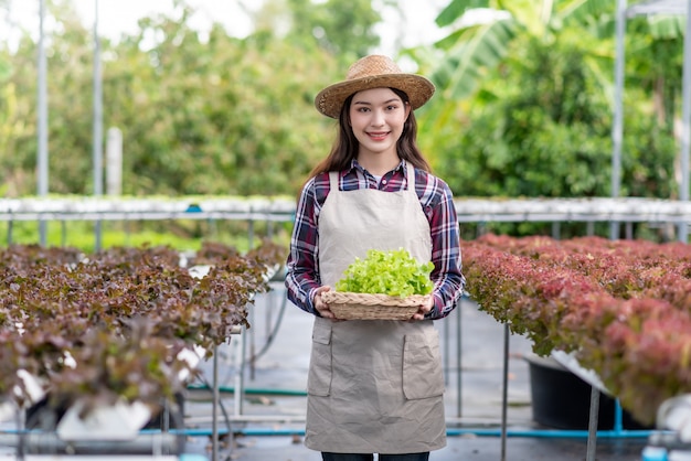
[[[407,167],[405,191],[331,190],[319,216],[321,282],[333,288],[370,248],[432,255],[429,223]],[[305,443],[340,453],[417,453],[446,446],[439,336],[430,320],[315,318]]]

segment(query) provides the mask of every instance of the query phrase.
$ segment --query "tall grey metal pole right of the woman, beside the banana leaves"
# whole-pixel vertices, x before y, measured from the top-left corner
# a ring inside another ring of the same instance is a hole
[[[626,26],[626,0],[617,0],[616,17],[616,56],[614,87],[614,120],[612,127],[612,197],[619,196],[621,183],[621,139],[624,137],[624,32]],[[619,236],[619,223],[609,223],[609,238]]]

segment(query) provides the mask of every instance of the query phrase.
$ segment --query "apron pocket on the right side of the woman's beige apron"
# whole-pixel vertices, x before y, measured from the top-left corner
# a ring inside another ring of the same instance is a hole
[[[444,394],[439,334],[406,335],[403,347],[403,394],[408,400]]]

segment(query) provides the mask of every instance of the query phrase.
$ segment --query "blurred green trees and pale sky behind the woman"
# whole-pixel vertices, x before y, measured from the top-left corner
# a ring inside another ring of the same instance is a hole
[[[612,0],[0,0],[0,197],[293,200],[334,136],[313,96],[358,57],[385,53],[437,86],[418,110],[418,141],[456,197],[676,200],[685,15],[627,18],[613,171],[616,9]],[[105,157],[109,138],[121,146],[121,171],[100,186],[95,154]],[[200,232],[171,226],[183,238]],[[550,232],[549,223],[489,226]],[[34,238],[33,227],[25,234]],[[17,226],[14,239],[23,235]],[[669,238],[645,225],[635,235]]]

